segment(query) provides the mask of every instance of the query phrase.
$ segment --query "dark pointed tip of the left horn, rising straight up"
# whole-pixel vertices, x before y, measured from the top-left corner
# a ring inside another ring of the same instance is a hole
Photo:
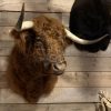
[[[16,24],[16,30],[18,30],[18,31],[21,30],[23,18],[24,18],[24,3],[22,4],[21,13],[20,13],[18,22]]]

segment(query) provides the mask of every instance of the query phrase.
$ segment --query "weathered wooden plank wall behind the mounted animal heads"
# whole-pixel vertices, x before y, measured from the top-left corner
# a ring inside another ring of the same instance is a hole
[[[65,72],[59,77],[49,97],[40,104],[26,104],[6,81],[7,58],[13,46],[9,30],[16,24],[22,2],[26,20],[46,14],[69,27],[69,12],[74,0],[0,0],[0,111],[95,111],[100,90],[111,92],[111,43],[107,51],[81,52],[72,44],[65,50]],[[109,3],[108,3],[109,4]]]

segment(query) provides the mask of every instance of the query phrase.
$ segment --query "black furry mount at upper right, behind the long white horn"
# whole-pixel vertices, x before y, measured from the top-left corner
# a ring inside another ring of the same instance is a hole
[[[105,0],[75,0],[70,12],[70,31],[81,39],[94,40],[110,34],[110,12]],[[80,50],[97,52],[105,50],[110,36],[94,44],[74,43]]]

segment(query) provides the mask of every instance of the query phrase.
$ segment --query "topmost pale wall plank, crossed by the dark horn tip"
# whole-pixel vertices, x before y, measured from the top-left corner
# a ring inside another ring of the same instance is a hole
[[[2,0],[0,10],[20,11],[22,3],[26,3],[26,11],[39,12],[70,12],[73,0]]]

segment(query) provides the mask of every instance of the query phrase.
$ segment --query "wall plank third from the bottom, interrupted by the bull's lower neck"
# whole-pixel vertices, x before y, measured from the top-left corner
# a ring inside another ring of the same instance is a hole
[[[64,72],[56,88],[111,88],[111,72]],[[0,89],[9,88],[6,72],[0,72]]]

